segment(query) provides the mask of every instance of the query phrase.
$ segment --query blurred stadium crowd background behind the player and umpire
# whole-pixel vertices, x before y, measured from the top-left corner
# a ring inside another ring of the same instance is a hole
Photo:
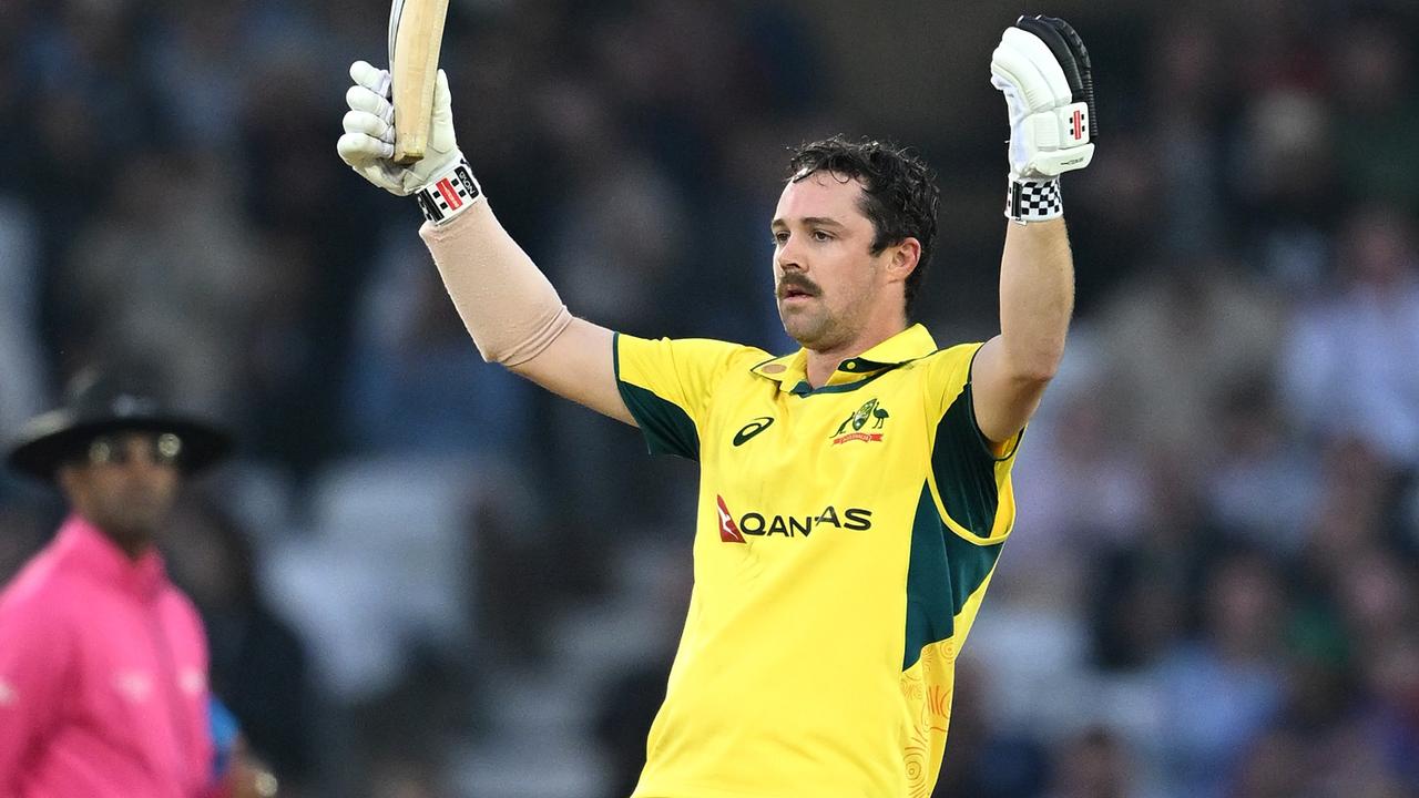
[[[460,143],[575,312],[785,349],[785,148],[841,131],[938,168],[920,315],[993,332],[1019,6],[453,6]],[[938,795],[1419,795],[1419,6],[1026,10],[1088,43],[1100,149]],[[335,156],[386,14],[0,3],[0,433],[95,359],[236,425],[170,564],[288,795],[624,795],[694,469],[481,365],[413,204]],[[0,575],[60,510],[0,481]]]

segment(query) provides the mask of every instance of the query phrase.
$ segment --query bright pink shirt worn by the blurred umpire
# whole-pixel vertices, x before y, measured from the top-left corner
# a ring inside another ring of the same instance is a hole
[[[71,515],[0,592],[0,797],[197,798],[207,640],[156,551]]]

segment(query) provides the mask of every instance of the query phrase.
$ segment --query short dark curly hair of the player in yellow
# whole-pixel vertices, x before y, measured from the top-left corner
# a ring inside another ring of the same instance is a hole
[[[921,260],[902,287],[910,317],[937,241],[937,209],[941,206],[937,173],[921,158],[895,143],[873,139],[854,142],[841,135],[805,143],[793,153],[789,182],[796,183],[815,172],[863,182],[858,207],[876,231],[874,256],[908,237],[921,241]]]

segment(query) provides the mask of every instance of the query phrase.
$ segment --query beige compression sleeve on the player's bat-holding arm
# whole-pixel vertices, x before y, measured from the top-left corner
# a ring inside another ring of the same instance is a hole
[[[556,288],[498,223],[487,200],[419,230],[482,359],[517,366],[572,322]]]

